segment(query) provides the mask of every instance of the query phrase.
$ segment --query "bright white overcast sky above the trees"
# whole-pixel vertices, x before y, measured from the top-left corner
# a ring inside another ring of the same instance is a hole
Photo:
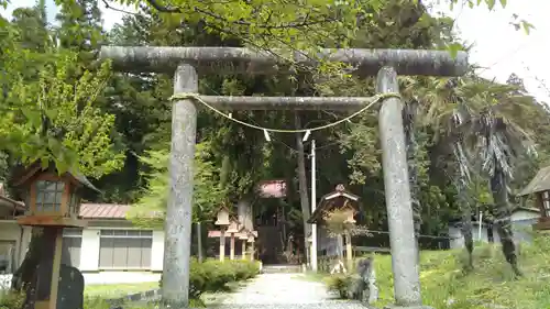
[[[8,10],[0,9],[0,14],[10,16],[14,8],[31,7],[36,1],[14,0],[12,2],[18,4],[11,4]],[[470,62],[485,67],[479,71],[483,77],[505,82],[512,73],[516,73],[524,79],[527,90],[532,96],[550,102],[550,90],[541,87],[546,84],[550,88],[550,57],[544,57],[544,54],[550,51],[550,19],[547,16],[550,12],[550,1],[509,0],[507,2],[505,9],[497,8],[493,11],[483,5],[473,9],[457,7],[451,11],[448,4],[435,5],[435,10],[442,10],[455,18],[457,30],[460,31],[461,37],[474,44],[470,53]],[[53,21],[57,12],[54,0],[46,0],[46,3],[48,19]],[[118,8],[122,7],[118,5]],[[102,12],[106,29],[111,29],[123,16],[123,13],[105,7],[102,7]],[[513,14],[534,24],[535,30],[529,35],[524,31],[516,31],[509,24]]]

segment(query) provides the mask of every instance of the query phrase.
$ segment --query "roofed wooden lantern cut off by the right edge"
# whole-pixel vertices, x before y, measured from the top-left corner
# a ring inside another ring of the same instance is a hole
[[[550,166],[541,168],[535,178],[525,187],[518,197],[535,196],[535,206],[540,211],[540,218],[534,229],[550,231]]]

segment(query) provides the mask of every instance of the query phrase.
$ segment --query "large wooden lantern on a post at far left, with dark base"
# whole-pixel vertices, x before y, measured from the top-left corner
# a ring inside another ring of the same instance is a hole
[[[40,260],[29,262],[36,263],[29,288],[34,291],[28,295],[24,308],[81,308],[84,277],[77,268],[63,264],[63,229],[86,227],[78,217],[80,196],[84,189],[98,189],[81,175],[59,174],[53,165],[40,163],[26,168],[13,186],[25,196],[25,213],[16,222],[43,228],[40,240],[32,241]]]

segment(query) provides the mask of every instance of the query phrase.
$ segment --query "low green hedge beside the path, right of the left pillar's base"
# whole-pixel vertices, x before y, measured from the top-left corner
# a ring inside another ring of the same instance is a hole
[[[228,284],[253,278],[260,273],[260,264],[244,260],[207,260],[199,263],[191,260],[189,275],[189,297],[198,299],[204,293],[223,291]],[[161,279],[162,284],[162,279]]]

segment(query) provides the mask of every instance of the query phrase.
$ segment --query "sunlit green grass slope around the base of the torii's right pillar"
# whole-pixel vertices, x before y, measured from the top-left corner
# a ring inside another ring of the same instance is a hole
[[[497,244],[474,249],[474,269],[464,272],[464,251],[422,252],[420,280],[424,304],[435,308],[486,309],[498,305],[508,309],[550,308],[550,236],[537,236],[532,244],[521,244],[516,278]],[[378,307],[392,304],[391,256],[376,256],[380,287]],[[447,305],[453,299],[452,305]],[[496,307],[495,307],[496,308]]]

